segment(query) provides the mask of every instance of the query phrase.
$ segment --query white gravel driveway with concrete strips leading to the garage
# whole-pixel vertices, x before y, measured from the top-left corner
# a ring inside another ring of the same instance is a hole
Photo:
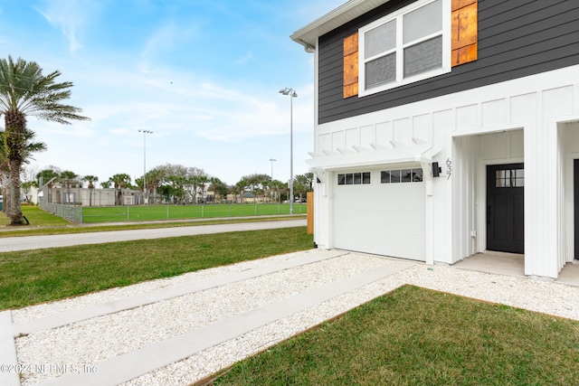
[[[579,287],[312,249],[13,310],[14,366],[23,385],[186,385],[403,284],[579,320]]]

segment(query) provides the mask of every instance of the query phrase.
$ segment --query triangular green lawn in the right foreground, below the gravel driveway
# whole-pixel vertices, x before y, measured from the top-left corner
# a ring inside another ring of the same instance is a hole
[[[579,385],[579,322],[404,286],[215,385]]]

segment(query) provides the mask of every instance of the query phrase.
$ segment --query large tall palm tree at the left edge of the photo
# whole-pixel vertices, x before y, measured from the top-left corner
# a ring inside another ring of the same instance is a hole
[[[35,61],[12,56],[0,60],[0,115],[5,116],[5,152],[10,167],[10,207],[12,225],[23,223],[20,206],[20,168],[25,158],[26,117],[58,122],[65,125],[72,120],[88,120],[75,108],[62,103],[71,96],[71,82],[57,83],[60,71],[44,76]]]

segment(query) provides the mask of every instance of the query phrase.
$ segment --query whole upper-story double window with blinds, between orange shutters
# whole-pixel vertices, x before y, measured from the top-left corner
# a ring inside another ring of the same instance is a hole
[[[359,96],[451,71],[449,4],[420,0],[360,29]]]

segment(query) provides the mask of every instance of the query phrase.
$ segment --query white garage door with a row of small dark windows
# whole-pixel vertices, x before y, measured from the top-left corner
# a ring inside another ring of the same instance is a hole
[[[409,171],[411,175],[419,172],[420,176],[414,177],[413,182],[408,181],[402,176]],[[382,183],[384,175],[395,182]],[[337,174],[337,177],[339,183],[335,182],[337,185],[333,189],[332,224],[335,248],[403,259],[426,259],[426,195],[419,166],[371,172],[369,184],[367,178],[366,184],[358,183],[364,179],[356,178],[356,173],[352,176]]]

